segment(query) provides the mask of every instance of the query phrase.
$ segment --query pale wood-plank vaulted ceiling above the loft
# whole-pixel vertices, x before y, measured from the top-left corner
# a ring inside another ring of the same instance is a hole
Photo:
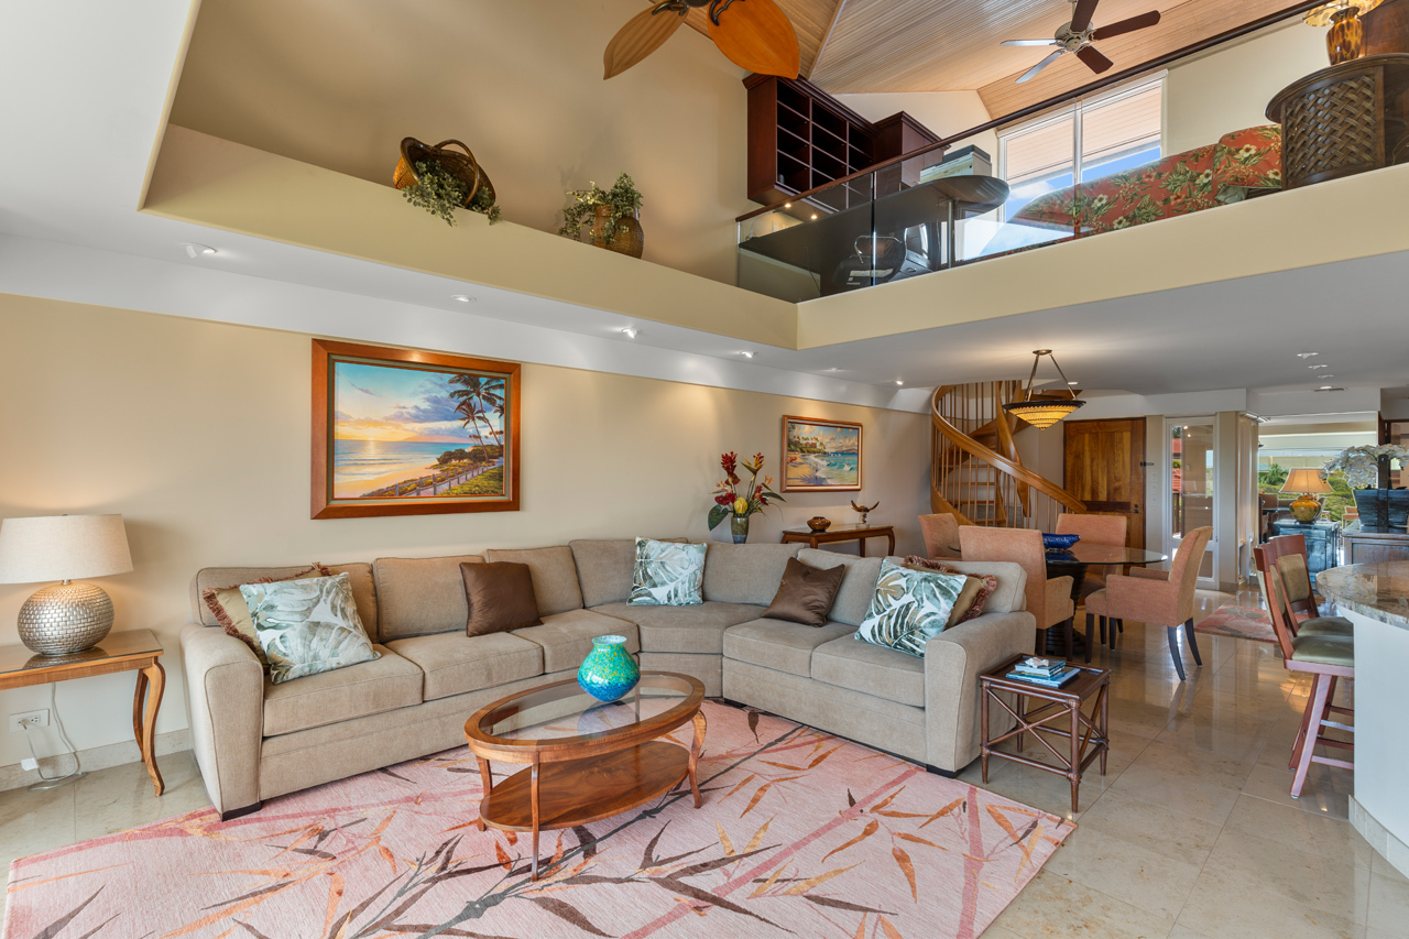
[[[775,0],[802,47],[802,75],[833,94],[978,90],[995,117],[1079,87],[1093,75],[1062,56],[1037,79],[1017,76],[1050,48],[1040,39],[1071,20],[1068,0]],[[1100,0],[1096,24],[1147,10],[1162,21],[1099,44],[1126,69],[1288,6],[1288,0]],[[688,23],[706,32],[700,10]]]

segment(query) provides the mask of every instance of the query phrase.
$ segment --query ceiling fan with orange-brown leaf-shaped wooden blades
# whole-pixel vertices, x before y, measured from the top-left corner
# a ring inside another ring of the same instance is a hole
[[[685,16],[709,7],[706,20],[714,45],[750,72],[797,78],[802,56],[797,34],[774,0],[664,0],[631,17],[602,55],[603,79],[620,75],[669,39]]]

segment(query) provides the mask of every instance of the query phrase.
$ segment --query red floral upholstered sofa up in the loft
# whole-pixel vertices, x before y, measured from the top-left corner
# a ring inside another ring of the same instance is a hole
[[[1009,221],[1078,238],[1186,216],[1282,188],[1282,128],[1250,127],[1209,147],[1040,196]]]

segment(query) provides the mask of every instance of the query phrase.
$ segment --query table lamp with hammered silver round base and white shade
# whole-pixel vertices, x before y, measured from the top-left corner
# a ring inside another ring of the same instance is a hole
[[[48,515],[0,522],[0,584],[62,581],[20,608],[20,642],[44,656],[68,656],[103,642],[113,601],[79,577],[132,570],[120,515]]]

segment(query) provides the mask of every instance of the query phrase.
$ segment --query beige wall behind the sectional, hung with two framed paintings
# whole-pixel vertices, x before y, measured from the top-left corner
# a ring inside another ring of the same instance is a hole
[[[874,517],[898,526],[900,553],[923,547],[923,415],[541,365],[523,371],[521,512],[313,522],[309,368],[303,334],[0,295],[0,517],[123,513],[135,570],[99,582],[117,629],[155,629],[168,649],[162,733],[186,723],[175,653],[199,567],[710,537],[717,454],[762,451],[775,472],[782,415],[861,422],[857,498],[881,502]],[[819,513],[852,522],[852,495],[789,496],[754,516],[751,540],[776,541],[782,524]],[[0,585],[0,643],[17,642],[20,605],[38,587]],[[130,674],[59,685],[80,750],[130,739],[131,692]],[[0,718],[46,708],[48,689],[0,692]],[[0,766],[23,756],[23,736],[0,733]]]

